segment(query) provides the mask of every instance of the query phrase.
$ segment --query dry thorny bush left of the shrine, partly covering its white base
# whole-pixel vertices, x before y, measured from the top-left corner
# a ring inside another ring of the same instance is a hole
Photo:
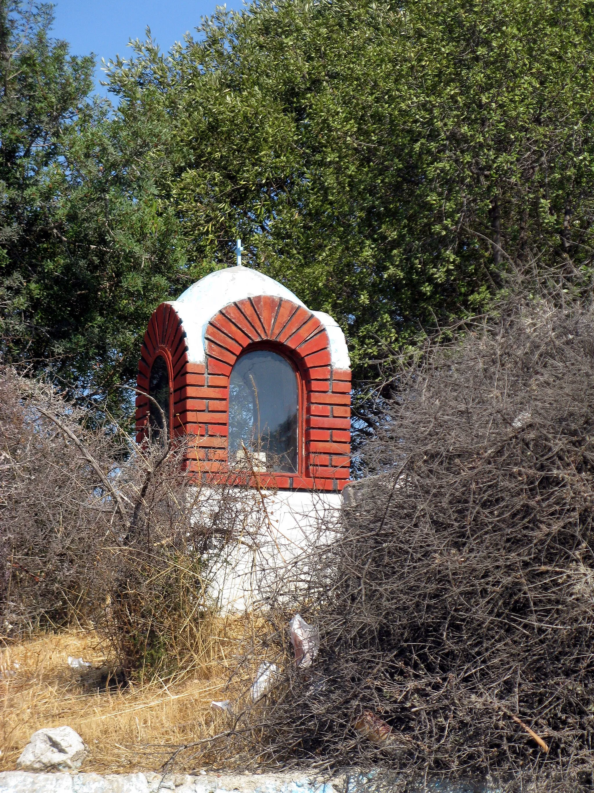
[[[78,620],[124,676],[179,673],[215,619],[208,560],[253,532],[257,494],[188,477],[183,441],[139,446],[88,418],[48,385],[0,377],[0,634]]]

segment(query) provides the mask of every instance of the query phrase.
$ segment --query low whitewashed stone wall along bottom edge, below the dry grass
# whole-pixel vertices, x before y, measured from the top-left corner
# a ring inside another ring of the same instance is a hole
[[[344,779],[280,774],[68,774],[5,771],[0,793],[338,793]]]

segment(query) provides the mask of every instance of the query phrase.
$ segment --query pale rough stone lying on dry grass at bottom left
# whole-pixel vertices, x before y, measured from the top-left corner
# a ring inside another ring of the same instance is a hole
[[[78,771],[86,756],[82,737],[72,727],[37,730],[17,760],[21,771]]]

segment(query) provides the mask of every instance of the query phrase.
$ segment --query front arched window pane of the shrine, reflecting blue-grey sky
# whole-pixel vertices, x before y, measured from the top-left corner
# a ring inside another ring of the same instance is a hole
[[[231,371],[229,462],[256,469],[297,473],[299,465],[297,375],[282,355],[253,350]]]

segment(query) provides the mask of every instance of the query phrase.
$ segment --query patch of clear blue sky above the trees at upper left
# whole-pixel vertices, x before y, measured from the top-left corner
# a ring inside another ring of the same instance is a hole
[[[194,33],[200,17],[213,13],[217,5],[223,0],[55,0],[54,36],[69,41],[73,55],[95,53],[98,81],[101,58],[109,60],[117,53],[125,58],[128,40],[144,39],[147,25],[167,51],[186,31]],[[227,9],[242,7],[242,0],[227,0]]]

